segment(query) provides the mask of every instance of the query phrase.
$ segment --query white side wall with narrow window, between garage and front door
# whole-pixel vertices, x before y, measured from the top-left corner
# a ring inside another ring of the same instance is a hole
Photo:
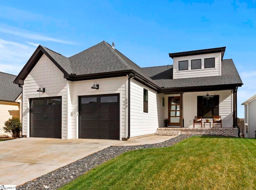
[[[148,113],[143,112],[143,89],[148,90]],[[166,100],[165,100],[166,101]],[[163,125],[162,95],[130,80],[130,137],[154,134]]]

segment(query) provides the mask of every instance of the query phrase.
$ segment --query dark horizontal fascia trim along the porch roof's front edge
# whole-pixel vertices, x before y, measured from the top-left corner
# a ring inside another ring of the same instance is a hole
[[[242,83],[228,84],[228,85],[162,88],[162,89],[160,89],[160,91],[158,91],[158,93],[175,94],[175,93],[181,93],[181,92],[233,90],[236,88],[236,86],[241,87]]]

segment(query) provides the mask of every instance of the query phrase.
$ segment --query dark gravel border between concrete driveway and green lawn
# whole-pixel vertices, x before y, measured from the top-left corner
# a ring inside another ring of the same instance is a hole
[[[90,169],[106,162],[124,152],[142,148],[159,148],[172,146],[188,137],[194,135],[179,135],[162,143],[144,144],[136,146],[110,146],[89,156],[81,158],[71,164],[58,168],[48,174],[42,175],[34,180],[16,187],[16,190],[56,190],[68,182],[81,176]]]

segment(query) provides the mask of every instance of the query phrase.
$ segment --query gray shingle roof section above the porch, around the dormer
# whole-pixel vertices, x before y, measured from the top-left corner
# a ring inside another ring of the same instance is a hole
[[[148,75],[152,75],[152,77],[157,76],[157,78],[154,80],[156,85],[165,88],[242,84],[242,80],[238,74],[238,71],[236,70],[232,59],[222,60],[221,68],[221,76],[194,77],[184,79],[172,79],[171,75],[169,79],[166,79],[166,71],[164,71],[163,69],[162,75],[160,69],[157,69],[157,67],[150,67],[150,69],[144,69],[145,71],[148,71]],[[153,71],[156,72],[153,73]]]

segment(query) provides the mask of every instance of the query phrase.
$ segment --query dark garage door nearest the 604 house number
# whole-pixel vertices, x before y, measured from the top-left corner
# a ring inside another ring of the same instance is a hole
[[[119,139],[119,94],[79,97],[79,138]]]

